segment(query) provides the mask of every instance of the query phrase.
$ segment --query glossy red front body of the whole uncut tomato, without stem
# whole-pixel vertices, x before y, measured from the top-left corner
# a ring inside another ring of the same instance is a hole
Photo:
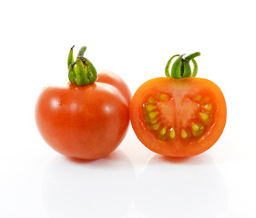
[[[48,86],[36,102],[36,125],[56,152],[97,159],[114,151],[127,133],[128,103],[103,83]]]

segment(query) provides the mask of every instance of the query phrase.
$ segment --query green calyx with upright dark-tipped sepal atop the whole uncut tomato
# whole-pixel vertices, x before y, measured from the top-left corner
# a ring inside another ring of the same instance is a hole
[[[75,45],[74,45],[75,46]],[[87,85],[97,80],[97,71],[93,64],[84,57],[86,46],[80,48],[77,60],[74,62],[73,48],[71,47],[67,58],[68,79],[71,84]]]

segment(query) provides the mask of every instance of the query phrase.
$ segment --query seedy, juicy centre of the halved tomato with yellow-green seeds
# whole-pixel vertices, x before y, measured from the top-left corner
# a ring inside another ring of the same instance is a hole
[[[200,94],[181,97],[166,93],[150,94],[142,108],[148,130],[162,141],[173,142],[179,138],[184,142],[200,143],[214,117],[210,96]]]

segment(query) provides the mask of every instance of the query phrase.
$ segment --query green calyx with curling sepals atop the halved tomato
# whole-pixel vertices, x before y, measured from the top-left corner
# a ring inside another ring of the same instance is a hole
[[[165,74],[167,77],[175,78],[175,79],[181,79],[186,77],[195,77],[198,73],[198,64],[195,61],[195,57],[199,56],[200,53],[193,53],[189,54],[189,56],[183,58],[185,54],[175,54],[172,57],[169,58],[168,63],[165,67]],[[174,57],[178,57],[175,62],[171,66],[171,70],[169,72],[169,64],[171,63],[172,59]],[[189,61],[192,61],[193,63],[193,72],[191,71],[191,67],[189,65]]]

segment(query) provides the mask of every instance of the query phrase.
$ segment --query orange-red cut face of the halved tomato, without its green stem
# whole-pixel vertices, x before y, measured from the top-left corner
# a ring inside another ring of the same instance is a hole
[[[130,104],[140,142],[167,156],[201,154],[217,142],[227,108],[220,88],[202,78],[159,77],[142,84]]]

